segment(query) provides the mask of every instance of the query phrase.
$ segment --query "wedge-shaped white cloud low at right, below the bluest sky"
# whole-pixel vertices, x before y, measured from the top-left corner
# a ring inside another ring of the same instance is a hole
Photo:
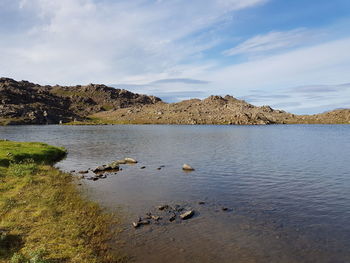
[[[349,47],[350,38],[344,38],[219,68],[193,77],[200,79],[205,76],[210,81],[207,91],[216,86],[220,87],[220,94],[245,97],[250,94],[250,90],[259,89],[266,94],[278,95],[284,92],[290,95],[286,99],[271,96],[252,101],[257,105],[288,103],[291,106],[283,109],[293,112],[302,112],[303,109],[312,112],[312,108],[319,110],[330,103],[345,107],[350,98],[350,89],[337,84],[349,82]],[[316,86],[315,82],[327,85],[328,89],[337,88],[336,92],[326,96],[325,86]],[[305,85],[311,85],[309,89],[314,87],[319,92],[306,96],[305,92],[297,93],[295,89],[293,92],[290,89]]]

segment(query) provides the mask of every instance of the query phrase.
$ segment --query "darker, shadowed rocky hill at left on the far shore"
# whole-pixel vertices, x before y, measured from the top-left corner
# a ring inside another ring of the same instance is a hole
[[[41,86],[0,78],[0,123],[46,124],[84,120],[106,110],[153,104],[159,98],[105,85]]]

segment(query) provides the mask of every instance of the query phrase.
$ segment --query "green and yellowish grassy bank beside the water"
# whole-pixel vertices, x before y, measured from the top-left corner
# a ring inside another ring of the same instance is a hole
[[[65,150],[0,141],[0,262],[120,262],[115,217],[51,164]]]

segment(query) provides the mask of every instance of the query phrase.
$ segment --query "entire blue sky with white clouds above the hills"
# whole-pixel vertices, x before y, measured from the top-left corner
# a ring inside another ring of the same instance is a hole
[[[0,0],[0,76],[350,108],[350,1]]]

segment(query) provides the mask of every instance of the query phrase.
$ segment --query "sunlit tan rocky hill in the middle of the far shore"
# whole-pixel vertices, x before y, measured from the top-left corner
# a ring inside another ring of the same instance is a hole
[[[277,124],[293,120],[295,115],[274,110],[269,106],[256,107],[232,96],[210,96],[178,103],[158,102],[92,115],[107,123],[157,124]]]

